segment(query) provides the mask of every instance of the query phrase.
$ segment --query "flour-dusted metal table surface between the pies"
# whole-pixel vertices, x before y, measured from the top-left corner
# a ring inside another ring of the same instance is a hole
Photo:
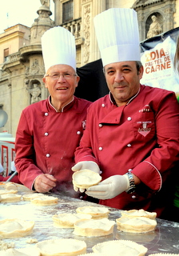
[[[18,193],[19,194],[19,193]],[[24,194],[22,192],[22,194]],[[26,194],[28,194],[26,192]],[[4,242],[14,242],[15,248],[23,248],[29,245],[26,240],[36,238],[38,242],[54,238],[74,238],[86,242],[87,253],[93,252],[92,247],[99,242],[110,240],[130,240],[148,248],[145,255],[154,253],[179,253],[179,223],[169,222],[157,218],[157,227],[146,234],[133,234],[117,230],[114,226],[113,234],[101,237],[82,237],[75,235],[74,229],[62,229],[54,226],[52,216],[62,213],[76,213],[76,209],[82,206],[100,206],[92,202],[86,202],[77,198],[70,198],[64,194],[50,194],[58,197],[55,206],[34,206],[30,202],[21,201],[14,203],[0,203],[0,220],[5,218],[20,218],[34,220],[33,233],[24,238],[4,239]],[[104,207],[104,206],[101,206]],[[109,219],[115,221],[121,217],[121,210],[109,207]]]

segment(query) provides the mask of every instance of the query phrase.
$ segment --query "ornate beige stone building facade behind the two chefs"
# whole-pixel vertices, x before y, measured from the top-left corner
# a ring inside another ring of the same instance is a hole
[[[51,27],[63,26],[74,34],[77,66],[81,67],[100,58],[93,17],[104,10],[112,7],[136,10],[141,41],[147,38],[153,15],[160,23],[161,32],[179,26],[179,0],[53,1],[54,21],[50,18],[50,1],[41,0],[42,6],[37,10],[38,18],[34,19],[30,28],[18,24],[0,34],[0,109],[8,114],[8,121],[0,128],[0,132],[7,130],[15,136],[22,110],[48,96],[42,82],[45,69],[41,37]]]

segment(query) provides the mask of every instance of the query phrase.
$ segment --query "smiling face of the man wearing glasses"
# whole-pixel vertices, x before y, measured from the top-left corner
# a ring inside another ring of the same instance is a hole
[[[60,74],[60,76],[58,76]],[[75,88],[78,86],[79,77],[71,66],[58,64],[51,66],[46,72],[43,82],[51,95],[53,106],[60,103],[65,106],[74,96]]]

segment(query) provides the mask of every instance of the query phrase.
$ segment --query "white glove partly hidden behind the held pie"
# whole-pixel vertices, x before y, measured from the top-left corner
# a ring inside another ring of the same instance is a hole
[[[96,162],[93,161],[82,161],[82,162],[78,162],[76,165],[74,165],[71,170],[73,171],[78,171],[78,170],[83,170],[83,169],[89,169],[89,170],[93,170],[93,172],[97,173],[97,174],[101,174],[101,171],[99,169],[99,166],[97,166]],[[80,192],[84,192],[85,190],[83,189],[79,189],[77,186],[74,186],[74,190],[76,192],[78,192],[78,190],[80,190]]]

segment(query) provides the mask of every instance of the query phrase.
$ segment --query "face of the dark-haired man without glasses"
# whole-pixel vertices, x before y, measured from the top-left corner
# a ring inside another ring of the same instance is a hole
[[[143,66],[137,72],[136,62],[116,62],[105,66],[105,79],[117,106],[129,102],[140,88]]]

